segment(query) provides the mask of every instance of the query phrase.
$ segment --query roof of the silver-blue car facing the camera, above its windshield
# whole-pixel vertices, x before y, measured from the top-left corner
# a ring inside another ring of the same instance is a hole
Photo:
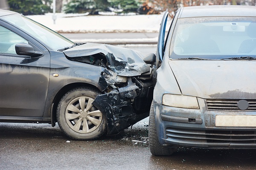
[[[256,6],[188,6],[180,8],[178,17],[256,17]]]

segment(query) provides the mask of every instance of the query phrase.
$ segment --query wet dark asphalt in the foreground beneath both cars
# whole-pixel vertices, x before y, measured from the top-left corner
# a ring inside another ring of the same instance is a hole
[[[71,140],[58,125],[0,123],[0,169],[256,169],[255,150],[178,148],[172,156],[152,156],[148,141],[141,139],[148,136],[147,121],[117,136],[104,136],[96,141]]]

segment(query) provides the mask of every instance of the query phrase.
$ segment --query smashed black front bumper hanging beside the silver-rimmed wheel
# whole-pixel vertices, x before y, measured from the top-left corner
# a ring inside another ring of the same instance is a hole
[[[142,83],[130,77],[127,86],[97,96],[93,105],[106,115],[108,134],[116,134],[148,117],[153,90],[152,81]]]

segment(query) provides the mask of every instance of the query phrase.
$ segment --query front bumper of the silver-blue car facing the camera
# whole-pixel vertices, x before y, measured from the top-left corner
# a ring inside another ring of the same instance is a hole
[[[216,115],[256,115],[256,111],[208,111],[174,108],[154,103],[159,141],[170,147],[256,148],[256,127],[216,127]]]

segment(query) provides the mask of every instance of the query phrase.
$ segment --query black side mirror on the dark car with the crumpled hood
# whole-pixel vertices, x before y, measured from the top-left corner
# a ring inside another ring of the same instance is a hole
[[[34,48],[26,43],[18,43],[15,45],[15,51],[18,55],[26,55],[31,57],[40,57],[43,55],[40,51],[35,51]]]

